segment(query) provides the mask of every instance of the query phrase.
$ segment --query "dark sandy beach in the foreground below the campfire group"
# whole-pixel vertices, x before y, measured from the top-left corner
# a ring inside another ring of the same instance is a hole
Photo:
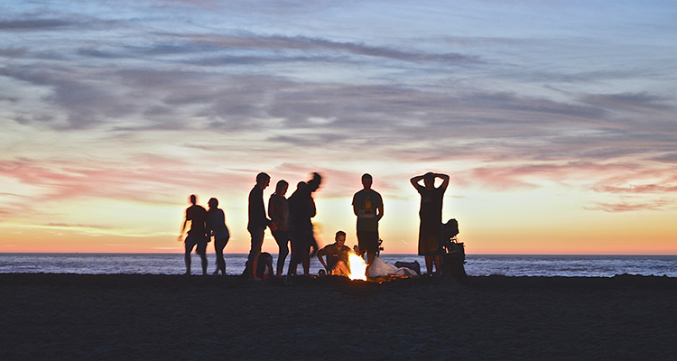
[[[0,274],[0,360],[677,360],[677,279]]]

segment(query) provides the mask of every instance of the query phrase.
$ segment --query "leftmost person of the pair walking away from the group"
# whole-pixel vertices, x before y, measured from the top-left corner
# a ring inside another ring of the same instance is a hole
[[[196,252],[202,260],[202,274],[207,274],[207,243],[209,242],[209,235],[207,234],[207,210],[202,206],[198,206],[197,201],[198,198],[194,194],[191,194],[191,206],[186,208],[186,218],[183,220],[181,234],[179,235],[179,238],[183,236],[186,225],[190,220],[190,230],[188,231],[188,236],[183,241],[186,245],[183,260],[186,263],[187,275],[190,275],[190,253],[196,245]]]

